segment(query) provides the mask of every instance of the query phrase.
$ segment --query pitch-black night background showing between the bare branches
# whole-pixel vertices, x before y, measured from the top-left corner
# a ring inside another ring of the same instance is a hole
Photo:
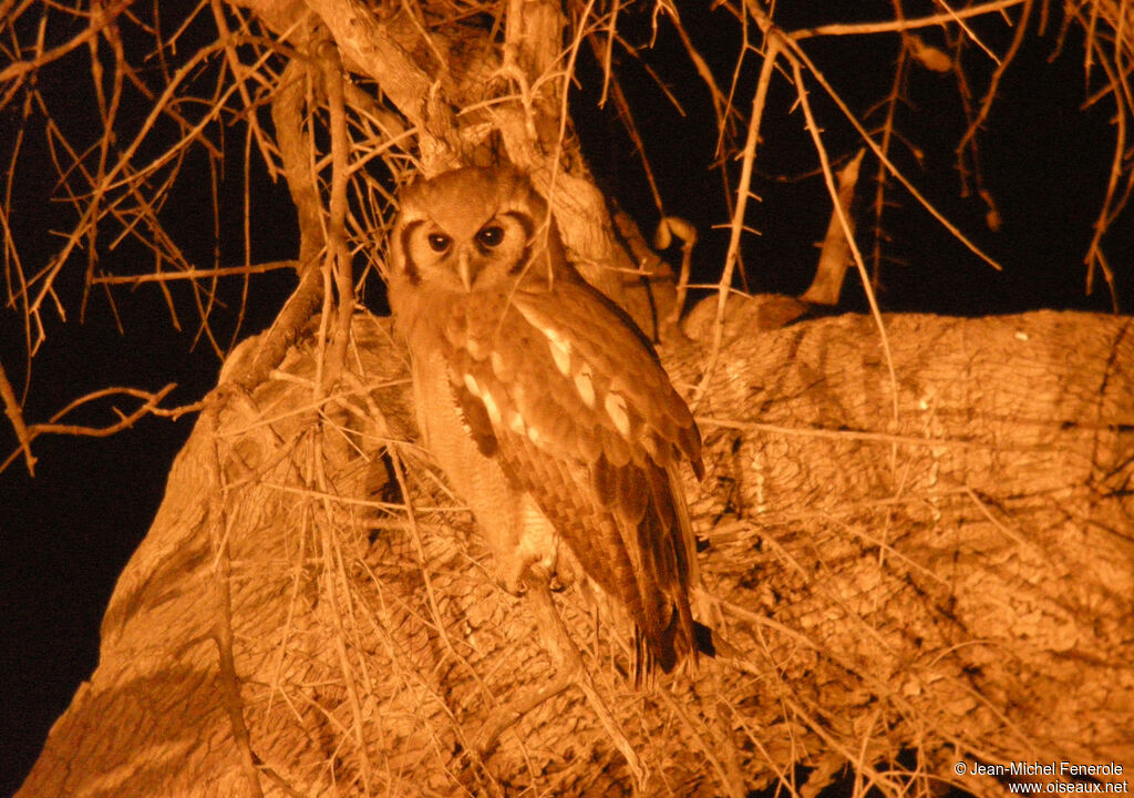
[[[889,3],[846,3],[841,9],[840,3],[801,6],[821,6],[824,18],[806,18],[806,11],[793,16],[792,6],[781,3],[779,23],[794,28],[819,22],[887,18],[890,12]],[[907,8],[907,12],[913,14],[913,9]],[[727,90],[739,45],[735,22],[720,12],[699,11],[692,5],[683,6],[683,14],[691,36],[712,60],[718,81]],[[644,19],[624,19],[624,35],[636,42],[649,39],[649,15]],[[913,69],[908,104],[898,116],[898,127],[923,149],[924,160],[919,163],[905,150],[897,151],[895,158],[955,224],[999,259],[1005,270],[997,272],[968,253],[911,198],[895,190],[891,199],[897,205],[885,220],[890,238],[886,251],[892,259],[882,271],[879,299],[885,310],[965,316],[1039,308],[1110,310],[1111,300],[1101,276],[1094,294],[1084,294],[1086,272],[1082,259],[1110,168],[1114,106],[1103,100],[1093,109],[1081,109],[1084,99],[1100,85],[1101,73],[1097,70],[1091,81],[1084,76],[1082,32],[1077,28],[1069,32],[1058,58],[1051,58],[1058,22],[1055,18],[1049,24],[1046,35],[1033,35],[1016,58],[979,138],[985,185],[1004,218],[999,233],[984,225],[982,203],[960,196],[953,151],[964,129],[964,118],[954,78]],[[163,25],[172,30],[175,23],[167,20]],[[980,20],[976,26],[998,52],[1005,51],[1009,30]],[[201,30],[196,35],[204,41],[210,34]],[[942,43],[931,30],[922,35],[931,43]],[[187,47],[192,41],[187,35],[183,49],[192,52]],[[897,48],[897,36],[815,41],[807,45],[858,112],[888,90]],[[86,58],[81,52],[44,70],[40,82],[45,94],[58,99],[57,116],[64,115],[76,131],[84,126],[91,131],[86,140],[90,143],[99,135],[98,117],[81,102],[84,92],[90,92],[90,83],[76,85],[75,81],[76,74],[87,74]],[[695,278],[714,282],[728,234],[711,227],[727,222],[728,211],[720,173],[712,166],[717,133],[706,92],[693,75],[668,23],[660,24],[657,45],[644,58],[677,95],[684,116],[646,72],[625,54],[618,75],[634,104],[666,211],[689,219],[701,232]],[[746,64],[736,95],[745,114],[759,68],[752,54]],[[974,48],[967,49],[964,64],[979,99],[991,65]],[[578,76],[583,85],[575,90],[572,108],[584,150],[603,187],[618,196],[649,235],[657,224],[657,210],[613,106],[596,108],[601,73],[589,56],[581,58]],[[819,87],[810,87],[832,157],[853,153],[853,134]],[[801,293],[814,268],[814,242],[822,238],[829,217],[826,188],[814,175],[815,159],[802,114],[790,112],[793,92],[782,79],[777,81],[762,128],[764,141],[758,156],[755,190],[763,200],[752,208],[748,221],[763,235],[748,236],[744,251],[748,287],[754,292]],[[145,107],[138,104],[136,117],[139,119],[144,112]],[[18,124],[11,109],[0,115],[5,162]],[[22,191],[16,195],[11,217],[25,269],[35,270],[58,246],[58,238],[49,230],[69,229],[74,212],[50,202],[56,176],[45,160],[42,126],[33,121],[25,135],[16,183]],[[738,137],[743,141],[743,136],[742,127]],[[240,136],[232,135],[232,140],[239,142]],[[229,149],[238,156],[242,148],[230,143]],[[730,166],[734,175],[735,166]],[[229,179],[221,185],[219,243],[212,233],[214,219],[205,167],[202,159],[200,165],[186,168],[186,175],[196,168],[201,177],[183,180],[176,190],[178,195],[170,199],[168,208],[172,210],[166,215],[169,229],[193,262],[238,266],[243,262],[238,161],[231,171],[226,170]],[[252,261],[294,257],[297,240],[287,192],[268,180],[259,163],[254,169],[259,171],[252,176]],[[875,161],[868,157],[860,201],[872,192],[874,169]],[[1106,240],[1125,312],[1134,306],[1131,221],[1131,213],[1125,213]],[[861,222],[860,241],[868,251],[864,234],[869,229],[869,221]],[[219,255],[214,255],[214,246],[219,246]],[[128,247],[103,252],[100,261],[101,268],[119,274],[149,270],[151,264],[152,258]],[[61,299],[68,321],[62,324],[45,314],[50,318],[48,341],[33,363],[25,419],[44,421],[71,398],[108,385],[156,390],[175,381],[178,388],[167,405],[203,397],[215,385],[219,360],[208,345],[195,339],[197,317],[188,286],[171,286],[180,331],[175,329],[154,286],[116,289],[113,297],[122,327],[119,333],[110,304],[100,292],[93,294],[79,324],[78,292],[84,266],[85,259],[77,259],[64,278]],[[294,282],[285,272],[255,277],[239,326],[236,309],[243,285],[239,278],[226,282],[221,295],[228,306],[212,319],[223,341],[243,339],[266,327]],[[372,284],[367,292],[372,306],[380,309],[381,287]],[[865,306],[857,276],[852,274],[843,310],[863,311]],[[17,393],[24,387],[26,368],[22,325],[18,313],[8,308],[0,310],[0,363]],[[112,405],[126,412],[135,406],[125,400],[103,402],[71,420],[112,423]],[[22,783],[51,723],[96,665],[99,623],[115,581],[145,535],[170,464],[195,421],[195,414],[178,421],[149,418],[107,439],[41,437],[34,444],[39,457],[34,480],[22,460],[0,473],[0,795],[10,793]],[[0,457],[14,447],[10,429],[0,425]]]

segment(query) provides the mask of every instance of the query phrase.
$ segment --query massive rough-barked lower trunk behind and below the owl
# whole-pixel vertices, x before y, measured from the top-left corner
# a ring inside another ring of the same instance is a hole
[[[954,763],[1134,764],[1134,321],[888,317],[896,381],[868,318],[741,324],[689,485],[717,658],[635,692],[626,630],[556,597],[643,791],[813,795],[849,765],[887,795],[993,793]],[[311,337],[217,394],[19,798],[249,795],[226,623],[264,795],[633,792],[413,445],[388,325],[354,336],[325,404]],[[691,386],[704,347],[665,359]]]

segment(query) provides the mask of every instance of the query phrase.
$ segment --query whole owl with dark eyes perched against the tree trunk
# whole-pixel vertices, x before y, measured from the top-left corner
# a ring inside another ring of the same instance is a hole
[[[703,477],[688,406],[631,318],[568,262],[509,167],[406,187],[389,301],[426,447],[473,511],[501,581],[582,572],[635,625],[635,673],[708,650],[679,479]]]

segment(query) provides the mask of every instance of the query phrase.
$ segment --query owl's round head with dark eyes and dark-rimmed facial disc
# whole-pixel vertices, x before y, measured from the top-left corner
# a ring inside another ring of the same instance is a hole
[[[392,254],[396,277],[463,293],[550,282],[565,268],[547,203],[509,167],[454,169],[406,186]]]

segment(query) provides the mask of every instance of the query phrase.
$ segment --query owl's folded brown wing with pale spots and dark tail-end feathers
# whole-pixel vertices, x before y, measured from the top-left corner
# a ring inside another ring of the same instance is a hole
[[[473,438],[627,607],[646,667],[670,670],[696,648],[678,465],[699,478],[703,467],[688,408],[633,322],[590,286],[557,282],[485,310],[458,314],[446,335]]]

